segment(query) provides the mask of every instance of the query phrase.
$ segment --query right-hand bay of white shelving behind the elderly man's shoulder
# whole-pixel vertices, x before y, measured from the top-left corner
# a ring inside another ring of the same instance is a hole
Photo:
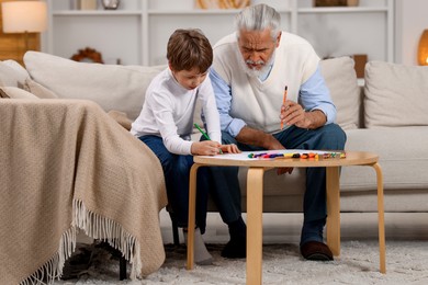
[[[360,0],[359,7],[314,8],[297,1],[299,35],[320,57],[367,54],[369,60],[394,61],[394,0]]]

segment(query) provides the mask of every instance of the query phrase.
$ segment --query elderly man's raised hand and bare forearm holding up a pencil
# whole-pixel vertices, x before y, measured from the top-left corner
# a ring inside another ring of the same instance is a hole
[[[326,124],[327,117],[320,110],[306,112],[300,104],[293,101],[285,101],[281,106],[281,122],[285,125],[295,125],[300,128],[315,129]]]

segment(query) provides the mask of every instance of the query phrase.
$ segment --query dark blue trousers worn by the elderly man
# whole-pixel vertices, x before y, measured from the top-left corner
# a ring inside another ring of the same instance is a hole
[[[346,142],[345,132],[336,124],[328,124],[317,129],[304,129],[291,126],[274,137],[286,149],[342,150]],[[263,150],[260,147],[244,145],[236,141],[227,133],[222,133],[223,144],[236,144],[243,151]],[[211,189],[223,221],[229,223],[240,216],[240,190],[238,168],[210,168],[214,187]],[[284,174],[286,175],[286,174]],[[326,207],[326,170],[325,168],[306,169],[306,191],[303,203],[304,220],[325,219]]]

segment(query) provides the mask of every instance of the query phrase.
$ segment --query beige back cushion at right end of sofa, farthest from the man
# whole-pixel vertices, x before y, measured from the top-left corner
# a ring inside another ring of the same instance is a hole
[[[364,94],[368,128],[428,125],[428,67],[370,61]]]

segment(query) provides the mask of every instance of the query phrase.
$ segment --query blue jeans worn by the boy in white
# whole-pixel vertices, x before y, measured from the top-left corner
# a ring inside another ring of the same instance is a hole
[[[165,182],[167,186],[168,204],[171,219],[178,227],[188,226],[189,213],[189,178],[190,168],[193,166],[193,156],[174,155],[165,147],[162,138],[158,136],[142,136],[139,139],[145,142],[158,157],[162,166]],[[196,226],[201,233],[206,227],[206,204],[209,195],[207,170],[200,168],[196,179]]]

